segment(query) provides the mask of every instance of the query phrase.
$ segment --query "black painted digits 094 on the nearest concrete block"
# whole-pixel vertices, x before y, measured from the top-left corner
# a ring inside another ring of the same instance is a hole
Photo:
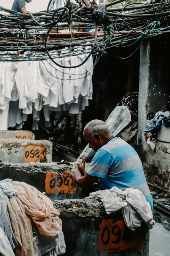
[[[105,234],[106,232],[107,232],[107,236]],[[117,224],[112,227],[111,233],[112,233],[112,235],[117,236],[116,240],[111,241],[112,244],[119,244],[120,240],[121,240],[121,230],[120,230],[120,227]],[[107,237],[107,238],[104,240],[104,237],[105,238]],[[107,245],[110,242],[110,230],[109,230],[108,227],[105,227],[102,230],[101,239],[102,239],[102,242],[105,245]],[[132,240],[131,232],[128,228],[126,228],[123,235],[122,235],[122,241],[127,241],[127,244],[129,244],[131,240]]]

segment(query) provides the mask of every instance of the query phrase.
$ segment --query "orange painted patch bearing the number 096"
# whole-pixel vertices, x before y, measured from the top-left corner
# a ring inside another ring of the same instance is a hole
[[[70,178],[70,173],[56,174],[46,173],[45,189],[48,194],[74,194],[77,190],[77,184]]]

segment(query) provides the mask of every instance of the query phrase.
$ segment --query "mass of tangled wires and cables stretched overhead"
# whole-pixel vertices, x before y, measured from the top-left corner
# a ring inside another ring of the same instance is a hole
[[[6,12],[6,14],[0,13],[0,35],[4,33],[16,35],[15,38],[1,36],[0,51],[17,50],[22,53],[33,50],[41,51],[38,58],[50,58],[56,65],[63,68],[75,68],[85,63],[92,53],[104,55],[106,49],[116,47],[119,55],[119,49],[133,46],[132,54],[134,54],[146,37],[170,32],[169,0],[161,0],[160,3],[153,3],[151,0],[150,4],[132,4],[129,3],[130,0],[127,0],[123,8],[114,8],[114,6],[124,0],[112,0],[111,3],[99,5],[95,2],[87,4],[85,0],[75,0],[75,2],[68,0],[64,7],[50,10],[51,2],[52,0],[49,1],[47,10],[27,14],[0,7],[0,11]],[[99,27],[102,27],[104,31],[103,35],[97,34]],[[79,34],[78,38],[74,38],[73,32],[81,28],[94,28],[94,35],[85,37]],[[58,31],[62,29],[69,29],[71,35],[69,39],[57,38]],[[56,34],[56,38],[49,41],[51,31]],[[24,40],[21,40],[21,35]],[[42,42],[37,40],[38,37],[42,39]],[[54,60],[55,54],[64,47],[69,47],[70,56],[87,52],[87,43],[91,45],[91,48],[88,50],[87,58],[81,64],[71,66],[70,61],[68,66],[62,66]],[[138,43],[137,46],[135,46],[136,43]],[[75,47],[81,49],[75,52]],[[42,53],[44,49],[46,53]],[[38,53],[31,57],[25,55],[20,60],[26,60],[28,57],[35,60],[36,55]],[[16,54],[6,52],[0,61],[10,61],[11,58],[17,60]]]

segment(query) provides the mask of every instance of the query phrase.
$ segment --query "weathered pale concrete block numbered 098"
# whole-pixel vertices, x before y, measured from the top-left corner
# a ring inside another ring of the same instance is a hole
[[[52,143],[27,139],[0,139],[2,162],[51,162]]]

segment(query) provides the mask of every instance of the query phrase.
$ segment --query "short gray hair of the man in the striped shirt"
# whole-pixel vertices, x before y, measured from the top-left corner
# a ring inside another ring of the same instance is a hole
[[[87,128],[88,132],[92,137],[94,137],[94,133],[107,134],[110,131],[108,125],[105,122],[103,122],[102,124],[95,124],[91,121],[85,126],[85,128]]]

